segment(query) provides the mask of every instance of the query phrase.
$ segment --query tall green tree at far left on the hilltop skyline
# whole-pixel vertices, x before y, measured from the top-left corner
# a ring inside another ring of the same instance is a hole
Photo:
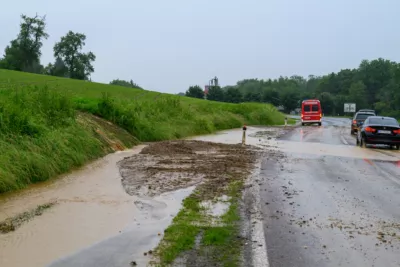
[[[42,41],[49,35],[46,33],[46,17],[28,17],[21,15],[20,31],[16,39],[10,42],[0,60],[4,69],[41,73]]]

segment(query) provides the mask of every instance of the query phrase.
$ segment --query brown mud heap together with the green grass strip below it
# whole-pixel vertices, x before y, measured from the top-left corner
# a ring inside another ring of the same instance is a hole
[[[119,162],[130,195],[155,196],[196,185],[165,229],[154,265],[240,266],[240,198],[260,150],[203,141],[165,141]]]

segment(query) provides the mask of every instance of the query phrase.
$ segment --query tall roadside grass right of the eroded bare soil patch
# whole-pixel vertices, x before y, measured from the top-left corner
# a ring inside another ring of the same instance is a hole
[[[190,103],[190,104],[188,104]],[[266,104],[228,104],[163,95],[156,100],[123,100],[103,94],[99,102],[77,103],[125,128],[142,141],[160,141],[247,124],[282,124],[283,115]]]

